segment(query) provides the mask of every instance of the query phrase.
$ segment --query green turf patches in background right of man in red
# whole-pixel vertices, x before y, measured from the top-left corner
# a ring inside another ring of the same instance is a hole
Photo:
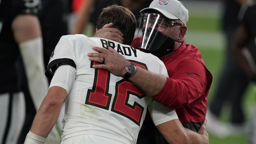
[[[213,18],[202,18],[202,17],[195,17],[189,16],[189,22],[187,23],[188,30],[198,31],[198,32],[221,32],[220,27],[220,19],[213,19]],[[189,38],[187,38],[189,39]],[[211,41],[211,39],[209,39]],[[193,44],[193,43],[191,43]],[[207,66],[207,68],[211,71],[213,76],[213,82],[211,85],[211,90],[209,92],[208,101],[211,102],[213,94],[216,90],[218,77],[221,72],[223,63],[224,63],[224,48],[217,48],[217,47],[205,47],[203,46],[200,48],[199,45],[196,45],[201,54],[202,58]],[[246,90],[244,99],[243,99],[243,109],[245,112],[246,121],[250,121],[252,107],[255,104],[255,84],[251,83]],[[229,120],[230,109],[227,106],[224,108],[221,114],[221,121],[226,123]],[[209,141],[210,144],[248,144],[247,134],[243,134],[241,136],[231,136],[227,138],[217,138],[209,133]]]

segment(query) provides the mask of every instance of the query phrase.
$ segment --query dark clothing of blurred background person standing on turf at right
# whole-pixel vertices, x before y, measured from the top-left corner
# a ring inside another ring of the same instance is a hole
[[[223,31],[226,37],[225,63],[219,77],[217,89],[209,105],[210,111],[220,117],[222,108],[226,102],[231,104],[232,124],[242,125],[244,123],[244,112],[242,110],[242,97],[249,84],[243,71],[237,65],[231,53],[231,40],[239,21],[237,19],[241,6],[236,0],[224,0]]]

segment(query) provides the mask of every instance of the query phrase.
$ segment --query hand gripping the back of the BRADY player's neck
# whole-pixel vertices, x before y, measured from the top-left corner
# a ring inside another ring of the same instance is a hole
[[[102,29],[97,30],[93,37],[105,38],[119,43],[123,43],[123,34],[116,28],[111,28],[113,23],[105,24]]]

